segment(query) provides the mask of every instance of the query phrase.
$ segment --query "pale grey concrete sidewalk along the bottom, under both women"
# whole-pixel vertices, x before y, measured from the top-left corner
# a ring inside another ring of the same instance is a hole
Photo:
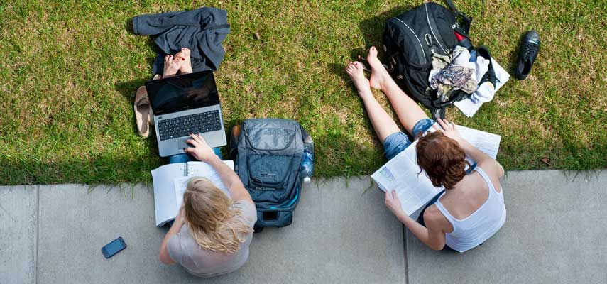
[[[0,283],[605,283],[607,172],[510,172],[508,219],[469,252],[425,248],[370,178],[312,181],[291,226],[253,237],[239,271],[193,278],[163,266],[143,185],[0,187]],[[405,230],[406,231],[406,230]],[[117,236],[128,248],[105,259]]]

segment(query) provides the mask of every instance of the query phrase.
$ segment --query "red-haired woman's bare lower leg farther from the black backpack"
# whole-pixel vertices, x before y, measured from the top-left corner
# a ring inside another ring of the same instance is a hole
[[[371,93],[371,87],[369,86],[369,80],[363,73],[363,65],[361,62],[351,62],[346,67],[346,72],[350,75],[354,86],[359,91],[359,96],[363,99],[365,109],[373,124],[373,129],[377,133],[379,140],[383,143],[385,138],[390,136],[392,133],[400,132],[398,126],[393,121],[392,117],[385,112],[385,109],[381,107],[381,104],[377,102],[373,94]]]

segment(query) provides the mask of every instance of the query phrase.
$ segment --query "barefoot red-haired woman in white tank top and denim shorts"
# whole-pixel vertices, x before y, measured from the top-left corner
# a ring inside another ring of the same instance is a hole
[[[468,251],[483,244],[504,224],[506,210],[500,178],[502,166],[461,138],[452,122],[439,119],[442,129],[426,133],[434,122],[394,82],[372,47],[367,56],[371,77],[366,79],[361,62],[346,67],[363,100],[385,155],[394,158],[411,145],[411,139],[377,102],[371,88],[381,89],[398,115],[400,124],[417,142],[417,163],[435,187],[444,187],[415,221],[403,212],[394,190],[385,192],[385,204],[405,226],[431,249]],[[466,156],[474,160],[470,165]]]

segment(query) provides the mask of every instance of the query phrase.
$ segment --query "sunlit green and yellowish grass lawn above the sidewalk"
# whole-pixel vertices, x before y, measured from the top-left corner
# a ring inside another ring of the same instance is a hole
[[[155,50],[128,23],[202,4],[81,2],[0,0],[0,184],[146,182],[163,164],[155,139],[137,136],[132,107]],[[421,3],[204,1],[226,9],[231,24],[216,75],[226,127],[295,119],[315,138],[315,175],[372,173],[383,150],[344,65],[381,45],[388,18]],[[542,47],[527,80],[511,78],[472,119],[458,109],[447,116],[500,134],[508,170],[606,168],[607,2],[455,3],[474,18],[474,43],[506,69],[528,29]]]

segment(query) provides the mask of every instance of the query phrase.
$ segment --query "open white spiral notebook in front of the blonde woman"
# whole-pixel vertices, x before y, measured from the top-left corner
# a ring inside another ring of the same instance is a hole
[[[229,168],[234,168],[234,161],[224,160],[224,163]],[[162,165],[152,170],[156,226],[164,226],[177,217],[183,204],[187,181],[192,177],[208,178],[217,188],[230,196],[219,174],[207,163],[192,161]]]

